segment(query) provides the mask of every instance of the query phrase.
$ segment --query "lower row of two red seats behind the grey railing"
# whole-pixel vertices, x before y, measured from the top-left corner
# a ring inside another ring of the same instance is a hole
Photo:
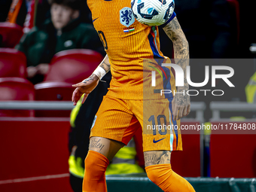
[[[74,88],[65,82],[32,83],[0,78],[0,101],[71,101]],[[0,110],[0,117],[69,117],[70,111]]]

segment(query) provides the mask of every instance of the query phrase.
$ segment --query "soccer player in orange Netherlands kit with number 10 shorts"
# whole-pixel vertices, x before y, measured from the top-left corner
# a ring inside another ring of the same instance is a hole
[[[148,178],[163,191],[194,191],[184,178],[172,171],[170,165],[171,151],[182,150],[179,130],[147,130],[148,122],[154,125],[160,120],[179,126],[179,119],[190,112],[190,98],[187,95],[169,94],[159,99],[157,91],[154,94],[150,92],[151,89],[143,90],[145,59],[168,59],[159,50],[158,28],[145,26],[135,20],[130,0],[87,0],[87,5],[107,55],[89,78],[73,85],[76,87],[72,96],[74,105],[83,94],[84,102],[110,70],[112,79],[93,122],[89,153],[84,161],[83,191],[107,191],[105,170],[108,163],[130,141],[137,129],[143,131]],[[181,66],[186,77],[188,43],[175,13],[163,29],[173,42],[175,63]],[[163,84],[175,91],[171,70],[164,68],[164,72]],[[160,81],[157,82],[159,84]],[[185,93],[186,90],[188,84],[184,78],[184,87],[178,87],[177,91]],[[147,99],[151,95],[158,99]]]

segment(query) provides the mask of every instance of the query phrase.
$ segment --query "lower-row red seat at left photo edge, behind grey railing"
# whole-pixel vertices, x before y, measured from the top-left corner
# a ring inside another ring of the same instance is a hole
[[[33,85],[23,78],[0,78],[0,101],[33,101]],[[34,117],[32,110],[0,110],[0,117]]]

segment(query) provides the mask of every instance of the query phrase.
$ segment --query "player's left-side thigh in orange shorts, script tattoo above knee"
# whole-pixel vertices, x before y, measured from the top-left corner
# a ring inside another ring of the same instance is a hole
[[[105,96],[93,121],[89,149],[111,160],[123,145],[128,144],[138,128],[141,128],[139,121],[126,101]]]

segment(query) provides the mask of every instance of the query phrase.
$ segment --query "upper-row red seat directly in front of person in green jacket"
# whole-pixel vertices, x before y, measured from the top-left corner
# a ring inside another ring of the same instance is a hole
[[[76,84],[89,77],[101,61],[102,55],[94,50],[63,50],[50,61],[44,81]]]

